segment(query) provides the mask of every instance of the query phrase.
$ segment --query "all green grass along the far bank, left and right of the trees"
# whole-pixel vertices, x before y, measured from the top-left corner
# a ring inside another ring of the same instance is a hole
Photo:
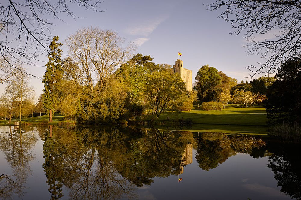
[[[267,135],[267,119],[265,108],[262,106],[252,106],[239,108],[237,105],[226,105],[221,111],[203,111],[197,106],[191,111],[183,112],[164,112],[160,115],[159,120],[164,121],[179,119],[183,117],[191,118],[193,125],[191,127],[171,127],[158,126],[160,130],[187,130],[192,132],[222,132],[227,134],[251,134]],[[73,121],[64,121],[64,116],[55,114],[53,122],[49,124],[73,123]],[[22,124],[48,124],[48,115],[24,118]],[[0,126],[13,125],[8,124],[8,120],[0,121]]]

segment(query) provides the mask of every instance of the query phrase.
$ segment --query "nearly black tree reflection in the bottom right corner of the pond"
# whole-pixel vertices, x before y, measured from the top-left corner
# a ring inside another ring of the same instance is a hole
[[[268,167],[274,173],[280,192],[291,198],[301,199],[300,144],[269,145],[272,155],[268,156]]]

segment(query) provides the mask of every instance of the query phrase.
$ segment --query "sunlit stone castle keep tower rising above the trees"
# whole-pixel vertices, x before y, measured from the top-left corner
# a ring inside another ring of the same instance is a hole
[[[172,74],[179,74],[182,80],[185,82],[186,91],[192,91],[192,71],[183,68],[183,61],[177,59],[175,65],[170,69]]]

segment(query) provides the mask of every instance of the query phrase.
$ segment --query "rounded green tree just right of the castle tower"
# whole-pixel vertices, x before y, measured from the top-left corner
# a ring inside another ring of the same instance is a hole
[[[215,100],[213,97],[216,95],[216,86],[221,84],[222,77],[218,74],[218,70],[209,65],[202,66],[197,75],[196,86],[200,101]]]

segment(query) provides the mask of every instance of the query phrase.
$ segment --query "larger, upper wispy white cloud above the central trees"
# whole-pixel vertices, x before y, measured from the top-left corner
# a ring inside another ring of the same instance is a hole
[[[159,17],[157,19],[142,22],[138,25],[136,24],[135,26],[126,29],[126,32],[130,35],[141,35],[148,37],[165,19],[166,17]]]

